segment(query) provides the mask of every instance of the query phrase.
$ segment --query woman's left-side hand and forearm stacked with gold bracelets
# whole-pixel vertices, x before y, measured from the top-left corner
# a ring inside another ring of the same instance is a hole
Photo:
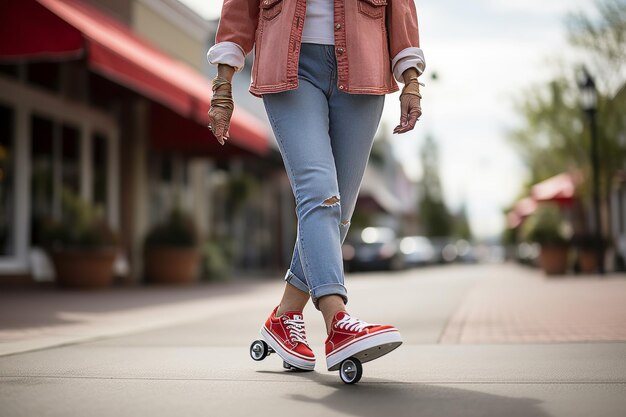
[[[224,145],[229,138],[230,118],[233,115],[235,103],[232,96],[231,79],[234,69],[225,64],[218,65],[218,75],[213,79],[213,96],[209,109],[209,124],[217,141]]]

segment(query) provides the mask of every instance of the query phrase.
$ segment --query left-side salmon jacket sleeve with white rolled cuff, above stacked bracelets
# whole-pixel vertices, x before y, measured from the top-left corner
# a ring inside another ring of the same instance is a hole
[[[224,0],[215,45],[207,53],[209,63],[228,64],[241,71],[254,47],[259,5],[259,0]]]

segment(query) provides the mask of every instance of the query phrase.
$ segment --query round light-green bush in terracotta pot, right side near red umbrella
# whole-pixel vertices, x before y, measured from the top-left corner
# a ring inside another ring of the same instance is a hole
[[[546,275],[562,275],[567,271],[569,254],[568,224],[556,205],[540,206],[522,226],[525,240],[539,243],[539,262]]]

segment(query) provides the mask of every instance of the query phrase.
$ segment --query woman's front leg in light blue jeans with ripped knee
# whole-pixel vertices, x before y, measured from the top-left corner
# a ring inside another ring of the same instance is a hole
[[[340,193],[331,139],[328,95],[334,67],[323,45],[302,44],[299,87],[263,95],[296,199],[298,232],[287,281],[308,292],[317,308],[320,297],[345,302],[341,257]]]

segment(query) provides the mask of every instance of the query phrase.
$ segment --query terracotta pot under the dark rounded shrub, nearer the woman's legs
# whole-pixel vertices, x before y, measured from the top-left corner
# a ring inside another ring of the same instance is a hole
[[[198,279],[200,254],[195,248],[149,248],[144,252],[148,282],[187,284]]]

